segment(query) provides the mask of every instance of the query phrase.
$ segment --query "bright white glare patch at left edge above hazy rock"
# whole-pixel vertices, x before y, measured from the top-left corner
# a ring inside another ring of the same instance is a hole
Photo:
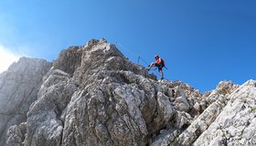
[[[5,71],[12,63],[16,62],[18,58],[19,56],[0,45],[0,73]]]

